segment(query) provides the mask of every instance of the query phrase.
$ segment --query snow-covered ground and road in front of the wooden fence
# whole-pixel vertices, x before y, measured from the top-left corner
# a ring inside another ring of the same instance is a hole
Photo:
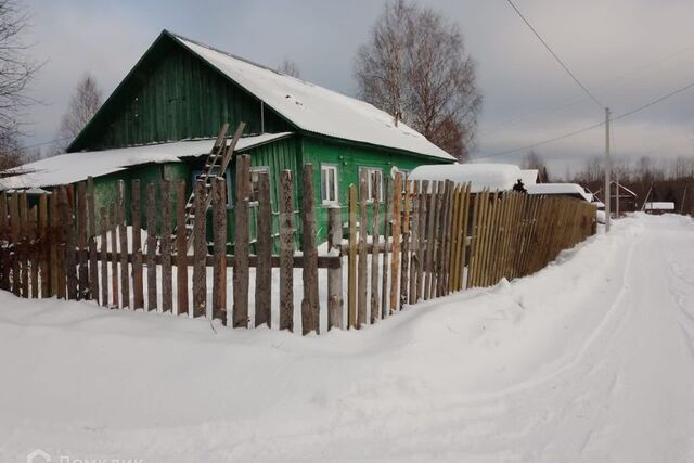
[[[694,222],[301,337],[0,294],[0,461],[692,462]]]

